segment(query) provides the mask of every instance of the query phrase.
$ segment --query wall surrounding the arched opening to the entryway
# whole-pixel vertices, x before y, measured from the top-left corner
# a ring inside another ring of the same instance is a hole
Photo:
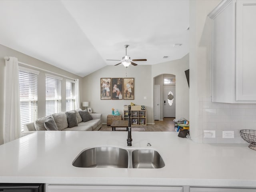
[[[185,75],[185,70],[188,69],[189,54],[178,60],[152,65],[152,78],[160,74],[173,74],[176,76],[176,118],[184,117],[189,119],[189,88]]]

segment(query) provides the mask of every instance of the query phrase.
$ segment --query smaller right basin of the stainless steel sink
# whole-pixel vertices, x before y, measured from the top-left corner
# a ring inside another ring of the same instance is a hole
[[[164,161],[155,150],[134,150],[132,152],[132,168],[162,168]]]

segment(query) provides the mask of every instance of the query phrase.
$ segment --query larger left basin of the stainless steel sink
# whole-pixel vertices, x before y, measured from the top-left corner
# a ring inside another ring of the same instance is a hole
[[[128,151],[117,147],[96,147],[83,151],[73,162],[76,167],[128,168]]]

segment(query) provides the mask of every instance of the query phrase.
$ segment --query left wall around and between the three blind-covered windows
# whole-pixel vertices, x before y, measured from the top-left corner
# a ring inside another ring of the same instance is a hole
[[[70,72],[62,70],[60,68],[54,67],[50,64],[32,58],[28,55],[25,55],[21,52],[10,49],[6,46],[0,44],[0,144],[3,144],[3,130],[4,130],[4,71],[5,71],[5,60],[4,56],[13,56],[18,58],[19,62],[23,62],[26,64],[30,64],[32,66],[42,68],[44,70],[48,70],[51,72],[55,72],[57,74],[61,74],[70,78],[79,78],[80,79],[80,90],[83,88],[82,78],[76,76]],[[24,66],[27,68],[31,68],[28,66]],[[33,69],[33,68],[32,68]],[[38,76],[38,118],[45,116],[45,72],[44,70],[39,70],[40,74]],[[66,98],[66,78],[63,77],[62,81],[62,98]],[[82,91],[80,91],[80,98],[82,97]],[[62,111],[66,109],[66,101],[62,100]]]

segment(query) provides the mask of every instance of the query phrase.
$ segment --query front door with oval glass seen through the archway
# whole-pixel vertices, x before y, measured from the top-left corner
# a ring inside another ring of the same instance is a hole
[[[164,87],[164,117],[175,117],[175,87]]]

